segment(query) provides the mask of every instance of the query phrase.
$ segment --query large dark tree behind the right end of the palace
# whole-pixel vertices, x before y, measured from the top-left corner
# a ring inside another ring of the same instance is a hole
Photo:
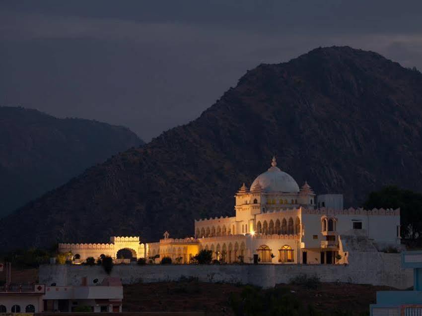
[[[422,238],[422,194],[411,190],[386,186],[379,191],[370,192],[364,208],[399,208],[401,235],[405,239]]]

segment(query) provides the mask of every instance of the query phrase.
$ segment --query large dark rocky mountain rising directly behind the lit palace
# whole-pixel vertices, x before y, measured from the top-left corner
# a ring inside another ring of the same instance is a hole
[[[197,120],[92,167],[0,222],[0,247],[157,240],[233,214],[271,157],[346,206],[385,184],[422,191],[422,74],[373,52],[318,48],[247,71]]]

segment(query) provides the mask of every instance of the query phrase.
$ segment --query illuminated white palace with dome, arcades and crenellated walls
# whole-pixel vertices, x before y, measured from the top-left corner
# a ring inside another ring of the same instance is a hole
[[[139,245],[138,238],[135,251],[128,241],[120,243],[138,257],[169,256],[179,263],[191,262],[205,249],[227,263],[336,264],[349,263],[351,253],[365,247],[400,247],[399,209],[343,209],[343,195],[316,196],[306,182],[299,189],[277,167],[275,158],[250,189],[245,184],[240,187],[234,209],[232,217],[195,220],[194,237],[173,239],[166,232],[164,239],[145,245]],[[121,249],[117,244],[116,238],[112,244],[94,244],[92,256],[97,257],[102,248],[116,255]],[[75,254],[83,248],[82,256],[77,253],[82,261],[90,255],[89,245],[60,244],[59,249]]]

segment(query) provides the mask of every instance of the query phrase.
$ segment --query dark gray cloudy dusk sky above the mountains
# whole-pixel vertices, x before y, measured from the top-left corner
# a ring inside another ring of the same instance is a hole
[[[422,1],[2,0],[0,105],[148,141],[197,118],[247,69],[332,45],[422,69]]]

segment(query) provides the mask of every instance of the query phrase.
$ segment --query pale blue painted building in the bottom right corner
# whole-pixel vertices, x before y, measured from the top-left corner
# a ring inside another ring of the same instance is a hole
[[[379,291],[371,316],[422,316],[422,251],[402,253],[402,267],[413,269],[413,291]]]

